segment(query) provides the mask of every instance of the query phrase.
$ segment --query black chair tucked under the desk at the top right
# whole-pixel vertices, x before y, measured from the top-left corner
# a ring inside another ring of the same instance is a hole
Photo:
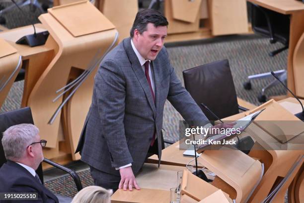
[[[270,56],[275,56],[288,48],[290,15],[278,13],[252,3],[251,24],[252,30],[257,34],[269,37],[270,43],[281,42],[284,45],[284,47],[270,52]]]

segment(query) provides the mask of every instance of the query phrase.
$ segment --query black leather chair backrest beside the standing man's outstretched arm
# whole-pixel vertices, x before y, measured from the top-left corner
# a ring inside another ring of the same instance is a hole
[[[209,120],[218,120],[200,103],[204,103],[219,118],[238,113],[238,104],[228,60],[216,61],[183,71],[186,90]]]

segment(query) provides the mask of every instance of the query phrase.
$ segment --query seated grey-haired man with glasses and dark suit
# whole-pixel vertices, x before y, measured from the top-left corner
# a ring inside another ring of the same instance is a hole
[[[36,193],[38,201],[33,202],[58,203],[35,172],[47,143],[40,140],[39,129],[33,124],[13,125],[3,132],[1,141],[7,163],[0,168],[0,193]]]

